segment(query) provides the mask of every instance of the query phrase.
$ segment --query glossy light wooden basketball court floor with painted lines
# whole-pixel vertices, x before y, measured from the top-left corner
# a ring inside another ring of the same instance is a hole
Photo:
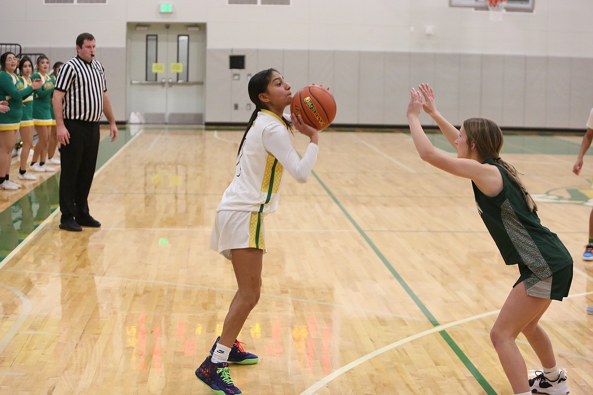
[[[236,283],[208,240],[243,132],[126,131],[91,191],[100,229],[58,229],[59,174],[0,191],[0,393],[211,393],[194,370]],[[486,232],[470,181],[423,163],[409,134],[320,140],[307,184],[286,174],[266,217],[262,298],[240,335],[260,362],[232,366],[235,384],[244,394],[512,394],[489,330],[518,273]],[[294,141],[302,155],[307,139]],[[570,296],[541,324],[571,395],[590,395],[593,267],[581,254],[593,156],[573,175],[580,143],[509,135],[503,158],[575,259]],[[518,344],[533,374],[540,363]]]

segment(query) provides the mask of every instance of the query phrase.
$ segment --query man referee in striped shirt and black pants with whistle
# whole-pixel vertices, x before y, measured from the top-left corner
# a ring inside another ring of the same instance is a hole
[[[111,141],[117,127],[103,65],[95,60],[95,37],[82,33],[76,37],[76,57],[64,63],[53,91],[60,159],[60,229],[80,232],[81,226],[100,227],[88,210],[88,193],[93,184],[99,150],[99,120],[109,121]]]

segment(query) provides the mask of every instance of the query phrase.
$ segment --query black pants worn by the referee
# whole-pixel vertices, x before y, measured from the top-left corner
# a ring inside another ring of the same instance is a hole
[[[89,216],[88,192],[93,184],[99,151],[99,123],[64,120],[70,143],[60,148],[60,211],[62,222]]]

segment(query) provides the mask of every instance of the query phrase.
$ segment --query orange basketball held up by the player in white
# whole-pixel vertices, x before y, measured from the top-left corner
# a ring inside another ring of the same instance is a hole
[[[336,117],[336,99],[322,86],[305,86],[292,97],[291,114],[301,114],[304,123],[323,130]]]

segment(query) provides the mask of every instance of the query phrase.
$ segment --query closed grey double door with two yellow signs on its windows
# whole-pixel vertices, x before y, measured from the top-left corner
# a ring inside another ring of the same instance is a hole
[[[203,124],[205,25],[129,24],[129,123]]]

